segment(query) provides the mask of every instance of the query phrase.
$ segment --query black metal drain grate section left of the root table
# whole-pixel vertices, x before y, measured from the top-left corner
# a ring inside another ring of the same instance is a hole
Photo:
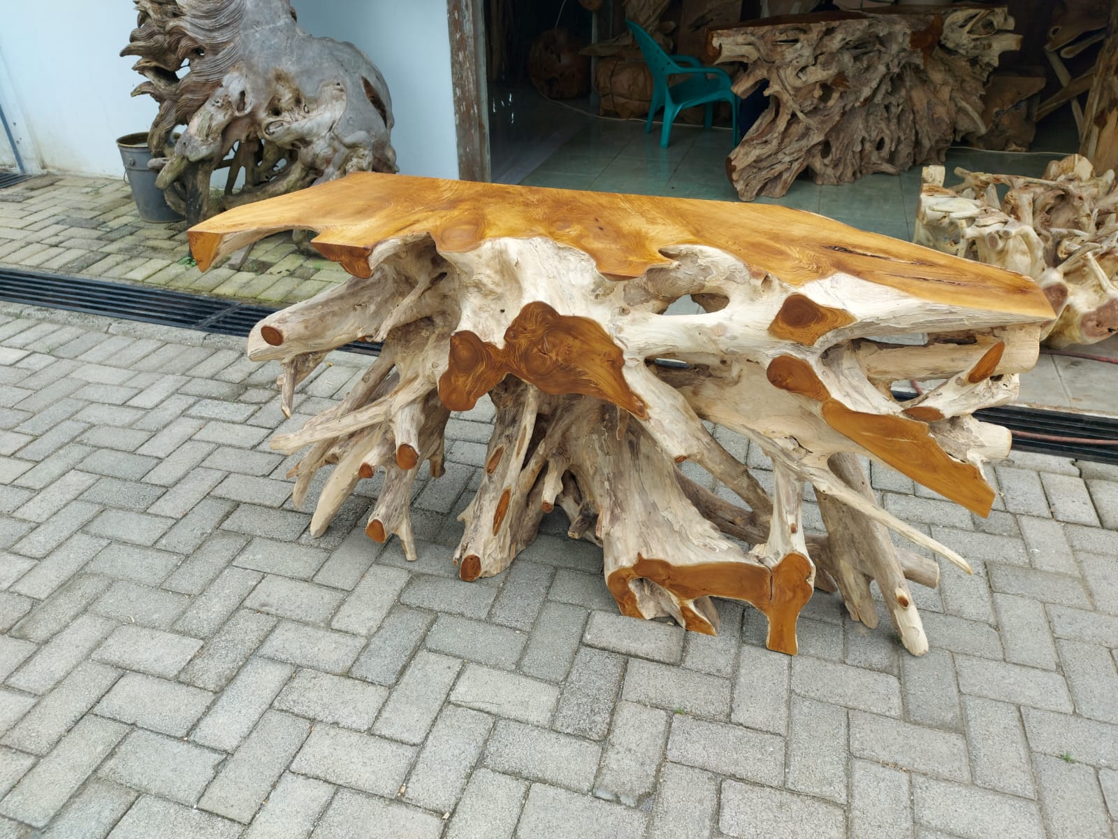
[[[257,321],[276,311],[168,289],[15,268],[0,268],[0,300],[233,336],[247,336]],[[377,355],[380,345],[354,341],[341,349]]]

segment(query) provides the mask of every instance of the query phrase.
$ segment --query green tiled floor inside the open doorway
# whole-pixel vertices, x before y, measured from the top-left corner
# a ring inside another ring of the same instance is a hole
[[[660,129],[644,132],[644,122],[593,120],[521,182],[537,187],[636,192],[737,201],[726,176],[730,152],[727,130],[675,125],[667,149],[660,148]],[[1054,138],[1048,147],[1060,145]],[[956,167],[991,172],[1040,176],[1055,154],[1013,154],[951,149],[947,154],[947,182]],[[800,176],[780,198],[760,197],[758,204],[821,213],[853,227],[910,239],[920,167],[900,175],[870,175],[853,183],[819,186]]]

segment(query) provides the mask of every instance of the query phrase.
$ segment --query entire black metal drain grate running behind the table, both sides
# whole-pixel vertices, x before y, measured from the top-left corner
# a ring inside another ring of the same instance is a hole
[[[276,311],[269,307],[167,289],[13,268],[0,268],[0,300],[233,336],[247,336],[257,321]],[[341,349],[377,355],[380,345],[353,342]],[[663,364],[679,365],[673,361]],[[1024,407],[984,408],[975,412],[975,416],[1004,425],[1010,431],[1090,439],[1102,443],[1092,445],[1014,435],[1013,446],[1021,451],[1118,463],[1118,420]]]

